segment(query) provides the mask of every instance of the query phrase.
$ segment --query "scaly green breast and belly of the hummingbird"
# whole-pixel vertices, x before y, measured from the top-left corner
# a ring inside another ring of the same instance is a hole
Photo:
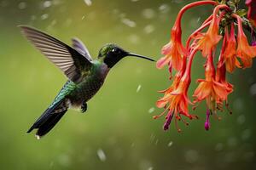
[[[102,88],[108,70],[108,66],[105,64],[94,65],[90,73],[77,84],[77,88],[69,96],[72,107],[80,107],[83,102],[87,102]]]

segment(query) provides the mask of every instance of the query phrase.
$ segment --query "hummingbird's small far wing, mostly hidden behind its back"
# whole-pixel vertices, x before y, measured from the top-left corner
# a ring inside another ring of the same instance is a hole
[[[80,54],[84,55],[84,57],[90,60],[90,62],[93,60],[90,56],[89,50],[86,48],[84,43],[79,40],[79,38],[77,37],[72,38],[72,42],[73,42],[73,48],[75,50],[77,50]]]

